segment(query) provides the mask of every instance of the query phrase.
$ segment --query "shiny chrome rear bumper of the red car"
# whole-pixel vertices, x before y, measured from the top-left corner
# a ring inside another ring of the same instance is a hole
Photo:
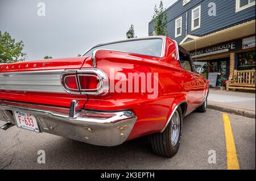
[[[125,142],[137,120],[137,116],[129,110],[77,110],[75,100],[71,102],[70,108],[0,100],[0,120],[16,124],[13,111],[35,116],[40,132],[101,146]]]

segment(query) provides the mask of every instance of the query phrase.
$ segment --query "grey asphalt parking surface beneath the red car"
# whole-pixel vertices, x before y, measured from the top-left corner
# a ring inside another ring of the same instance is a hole
[[[240,169],[255,169],[255,119],[229,118]],[[38,150],[45,151],[45,164],[37,162]],[[216,151],[216,163],[208,162],[209,150]],[[107,148],[16,127],[0,130],[0,169],[227,169],[226,154],[222,112],[213,110],[184,119],[172,158],[154,154],[148,137]]]

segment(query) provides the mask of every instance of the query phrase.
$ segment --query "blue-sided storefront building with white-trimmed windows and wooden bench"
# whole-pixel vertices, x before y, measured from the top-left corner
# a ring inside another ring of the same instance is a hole
[[[255,90],[255,0],[179,0],[166,11],[168,36],[191,53],[205,77],[217,73],[254,83],[243,88]],[[153,22],[148,29],[154,35]]]

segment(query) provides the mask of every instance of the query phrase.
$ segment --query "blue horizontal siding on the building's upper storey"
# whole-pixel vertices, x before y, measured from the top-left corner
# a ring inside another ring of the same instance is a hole
[[[208,4],[210,2],[216,3],[217,16],[208,15],[208,10],[210,9]],[[236,0],[191,0],[185,6],[182,3],[183,0],[178,0],[166,10],[168,14],[168,36],[178,43],[186,36],[186,12],[188,14],[187,33],[197,36],[207,35],[246,20],[255,19],[255,6],[236,12]],[[191,31],[191,12],[199,5],[201,5],[201,27]],[[180,16],[182,16],[182,36],[175,38],[175,20]],[[151,35],[153,31],[154,23],[150,22],[148,24],[148,35]]]

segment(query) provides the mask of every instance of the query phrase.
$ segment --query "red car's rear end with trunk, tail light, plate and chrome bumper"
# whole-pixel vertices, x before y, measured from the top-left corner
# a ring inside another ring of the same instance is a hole
[[[81,69],[82,68],[82,69]],[[127,140],[137,117],[130,110],[88,110],[88,95],[104,95],[109,78],[91,57],[0,66],[0,120],[94,145]]]

